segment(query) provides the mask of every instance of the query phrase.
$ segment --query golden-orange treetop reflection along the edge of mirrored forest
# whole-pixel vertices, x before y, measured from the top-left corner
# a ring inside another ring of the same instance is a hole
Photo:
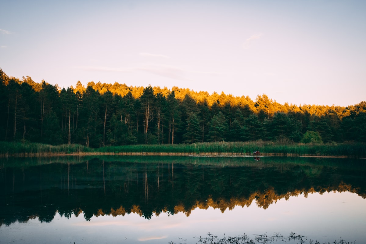
[[[236,206],[249,207],[254,200],[257,207],[267,209],[270,206],[270,204],[276,203],[280,199],[289,200],[291,196],[299,196],[302,194],[305,198],[307,198],[309,194],[313,194],[316,192],[319,192],[322,195],[325,192],[346,192],[346,191],[358,194],[358,190],[359,189],[352,187],[352,185],[344,184],[343,182],[341,182],[340,185],[336,188],[328,187],[328,188],[314,189],[313,187],[311,187],[310,189],[296,189],[292,192],[287,192],[285,194],[276,194],[275,189],[273,187],[270,187],[265,192],[254,192],[247,198],[240,197],[240,198],[231,198],[227,200],[224,198],[213,199],[212,196],[210,196],[205,201],[202,202],[196,201],[196,203],[193,204],[192,206],[185,206],[183,203],[180,203],[174,206],[174,211],[172,214],[184,213],[188,217],[190,216],[191,212],[196,208],[208,209],[209,207],[212,207],[213,209],[220,209],[221,213],[224,213],[225,210],[227,209],[232,210]],[[366,198],[366,194],[358,194],[358,195],[364,199]],[[105,214],[107,214],[116,217],[117,215],[124,216],[126,215],[126,213],[127,214],[135,213],[138,214],[139,216],[144,216],[143,210],[141,210],[140,206],[138,205],[133,205],[130,210],[126,210],[123,206],[120,206],[116,210],[111,208],[111,210],[108,212],[103,211],[102,209],[98,209],[96,214],[94,215],[98,217],[100,215],[104,216]],[[169,214],[171,213],[171,211],[169,211],[165,207],[164,209],[154,211],[152,214],[159,216],[161,213]]]

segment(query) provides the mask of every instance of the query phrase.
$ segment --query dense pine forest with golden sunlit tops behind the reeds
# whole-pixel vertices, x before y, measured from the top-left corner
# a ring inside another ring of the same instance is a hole
[[[88,147],[218,141],[366,141],[366,102],[281,105],[172,87],[81,82],[60,89],[0,69],[0,140]]]

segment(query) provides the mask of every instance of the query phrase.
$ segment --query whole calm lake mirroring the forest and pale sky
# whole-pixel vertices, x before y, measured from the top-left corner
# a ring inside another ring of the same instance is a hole
[[[366,243],[365,176],[347,158],[1,158],[0,243]]]

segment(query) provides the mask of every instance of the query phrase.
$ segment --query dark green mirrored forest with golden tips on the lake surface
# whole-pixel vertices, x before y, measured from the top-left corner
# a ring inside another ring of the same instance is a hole
[[[38,217],[49,222],[57,213],[66,218],[83,213],[86,220],[93,215],[137,213],[150,219],[164,212],[189,216],[197,207],[224,212],[253,202],[266,209],[279,199],[314,192],[350,191],[366,198],[362,161],[283,160],[265,158],[260,164],[242,161],[227,166],[99,159],[3,164],[0,221],[11,224]]]

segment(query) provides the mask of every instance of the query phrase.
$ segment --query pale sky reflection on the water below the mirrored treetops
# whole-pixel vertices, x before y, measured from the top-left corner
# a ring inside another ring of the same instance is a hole
[[[138,214],[93,216],[85,221],[83,214],[70,219],[56,214],[51,223],[38,219],[27,223],[1,226],[1,243],[196,243],[207,233],[219,236],[239,234],[295,232],[307,240],[332,243],[340,239],[366,243],[366,199],[349,192],[319,193],[280,199],[268,209],[237,206],[221,213],[220,209],[195,209],[168,216],[161,213],[150,220]],[[183,239],[178,239],[183,238]],[[185,241],[187,240],[187,241]],[[293,243],[293,242],[292,242]]]

